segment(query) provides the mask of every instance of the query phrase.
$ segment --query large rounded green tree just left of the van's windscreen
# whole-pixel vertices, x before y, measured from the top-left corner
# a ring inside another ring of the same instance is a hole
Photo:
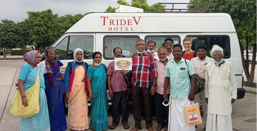
[[[50,46],[59,36],[59,17],[53,11],[29,11],[29,41],[35,46],[35,50],[40,47]]]

